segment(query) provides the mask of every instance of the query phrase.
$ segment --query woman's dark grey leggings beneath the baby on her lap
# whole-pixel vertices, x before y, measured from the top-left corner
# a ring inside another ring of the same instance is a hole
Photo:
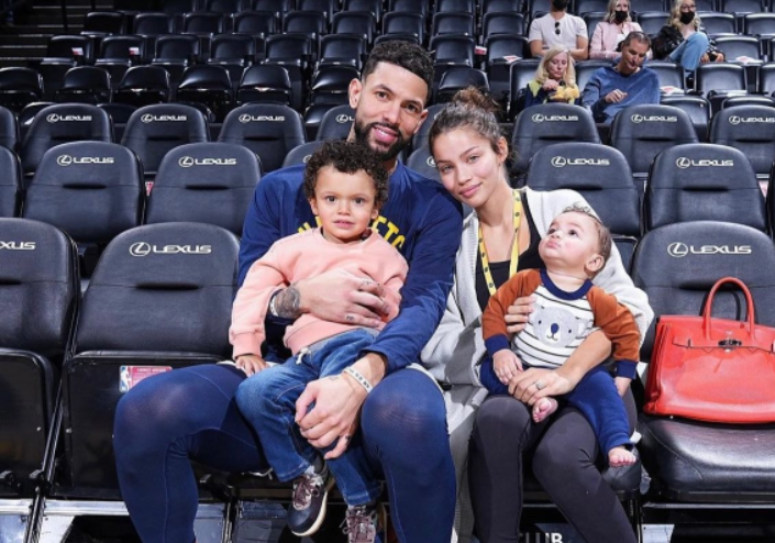
[[[634,428],[630,392],[624,406],[630,428]],[[481,543],[519,541],[524,454],[532,454],[535,477],[585,541],[635,542],[619,498],[596,467],[599,447],[586,418],[565,407],[535,424],[529,406],[510,396],[492,396],[477,412],[468,459],[476,534]]]

